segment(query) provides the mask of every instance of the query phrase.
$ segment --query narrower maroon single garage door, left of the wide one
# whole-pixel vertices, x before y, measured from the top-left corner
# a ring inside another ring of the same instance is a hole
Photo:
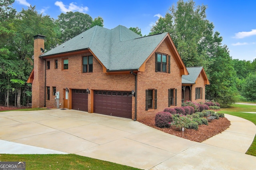
[[[88,94],[86,90],[72,90],[72,109],[88,111]]]

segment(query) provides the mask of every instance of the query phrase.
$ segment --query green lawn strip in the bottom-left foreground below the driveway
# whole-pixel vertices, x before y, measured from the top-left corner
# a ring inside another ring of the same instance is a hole
[[[76,154],[0,154],[0,161],[26,162],[26,170],[139,170]]]

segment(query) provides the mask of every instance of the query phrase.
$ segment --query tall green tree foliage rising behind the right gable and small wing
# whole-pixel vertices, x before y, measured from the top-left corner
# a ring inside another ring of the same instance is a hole
[[[178,0],[164,18],[156,21],[150,35],[168,32],[187,67],[204,66],[211,83],[206,87],[206,98],[229,106],[236,94],[232,57],[226,45],[221,45],[222,37],[214,32],[214,24],[207,20],[206,9],[193,0]]]

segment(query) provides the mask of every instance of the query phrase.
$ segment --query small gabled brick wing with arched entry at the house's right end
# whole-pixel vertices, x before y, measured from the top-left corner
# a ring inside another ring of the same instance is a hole
[[[188,75],[182,75],[182,102],[205,102],[205,86],[210,82],[202,66],[187,67]]]

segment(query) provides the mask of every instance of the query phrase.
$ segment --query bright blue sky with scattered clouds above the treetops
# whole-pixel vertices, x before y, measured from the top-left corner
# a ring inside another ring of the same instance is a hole
[[[186,0],[184,0],[186,1]],[[256,0],[194,0],[196,6],[207,5],[207,19],[215,26],[214,31],[223,37],[233,59],[256,59]],[[93,19],[100,16],[104,27],[118,25],[139,27],[142,35],[148,35],[158,17],[165,16],[177,0],[15,0],[18,12],[27,6],[36,6],[38,13],[57,19],[68,11],[83,12]]]

